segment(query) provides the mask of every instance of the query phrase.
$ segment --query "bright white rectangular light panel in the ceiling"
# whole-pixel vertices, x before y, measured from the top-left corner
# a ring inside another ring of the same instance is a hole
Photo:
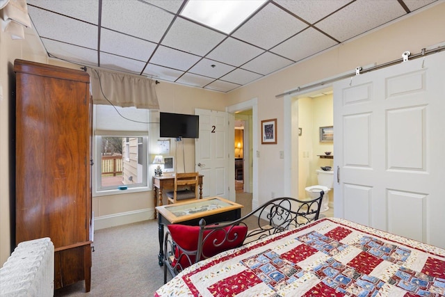
[[[266,0],[189,0],[181,15],[229,34],[264,2]]]

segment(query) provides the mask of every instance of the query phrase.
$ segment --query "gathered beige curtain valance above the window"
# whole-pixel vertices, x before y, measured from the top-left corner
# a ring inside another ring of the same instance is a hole
[[[156,81],[136,74],[87,67],[94,104],[159,109]]]

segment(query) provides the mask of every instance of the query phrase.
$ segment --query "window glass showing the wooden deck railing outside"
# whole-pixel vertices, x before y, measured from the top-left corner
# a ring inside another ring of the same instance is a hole
[[[97,191],[147,186],[147,137],[96,136]]]

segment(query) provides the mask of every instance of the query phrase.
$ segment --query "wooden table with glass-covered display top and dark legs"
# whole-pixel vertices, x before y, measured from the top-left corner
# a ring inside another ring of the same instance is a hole
[[[201,218],[204,218],[207,224],[236,220],[241,218],[242,207],[243,205],[241,204],[220,197],[156,207],[156,211],[159,211],[159,266],[163,265],[164,257],[164,225],[183,224],[197,226]]]

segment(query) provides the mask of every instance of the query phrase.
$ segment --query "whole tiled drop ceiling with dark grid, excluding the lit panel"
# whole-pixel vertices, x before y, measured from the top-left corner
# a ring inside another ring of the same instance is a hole
[[[50,57],[227,93],[435,1],[268,0],[229,34],[182,0],[27,3]]]

